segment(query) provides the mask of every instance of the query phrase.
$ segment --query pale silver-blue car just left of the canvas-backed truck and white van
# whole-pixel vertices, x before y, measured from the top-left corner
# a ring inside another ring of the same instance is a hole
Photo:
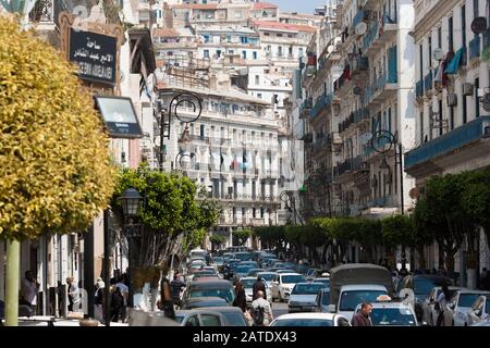
[[[327,288],[323,283],[297,283],[287,302],[290,313],[316,312],[318,308],[318,293]]]

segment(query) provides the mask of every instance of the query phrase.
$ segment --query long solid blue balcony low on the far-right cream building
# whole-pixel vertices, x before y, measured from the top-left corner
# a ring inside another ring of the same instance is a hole
[[[430,161],[452,154],[455,150],[481,142],[490,138],[490,116],[481,116],[454,130],[424,144],[405,154],[405,171],[411,173],[418,166],[426,166]]]

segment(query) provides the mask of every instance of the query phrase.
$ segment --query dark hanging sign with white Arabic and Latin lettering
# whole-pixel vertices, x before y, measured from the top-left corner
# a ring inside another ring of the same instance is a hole
[[[115,37],[70,30],[70,61],[78,64],[83,79],[115,85]]]

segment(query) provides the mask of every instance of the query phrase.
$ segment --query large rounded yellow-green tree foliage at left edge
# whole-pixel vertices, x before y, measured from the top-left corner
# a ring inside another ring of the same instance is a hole
[[[61,54],[0,16],[0,237],[86,228],[114,187],[108,137]]]

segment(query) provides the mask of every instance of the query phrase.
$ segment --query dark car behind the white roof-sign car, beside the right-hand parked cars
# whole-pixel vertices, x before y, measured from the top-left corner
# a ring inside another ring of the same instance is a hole
[[[453,281],[449,277],[436,274],[417,274],[407,275],[396,284],[396,294],[400,296],[400,291],[405,288],[409,288],[414,291],[415,296],[415,313],[419,322],[424,319],[424,301],[429,298],[430,291],[436,286],[453,285]]]

